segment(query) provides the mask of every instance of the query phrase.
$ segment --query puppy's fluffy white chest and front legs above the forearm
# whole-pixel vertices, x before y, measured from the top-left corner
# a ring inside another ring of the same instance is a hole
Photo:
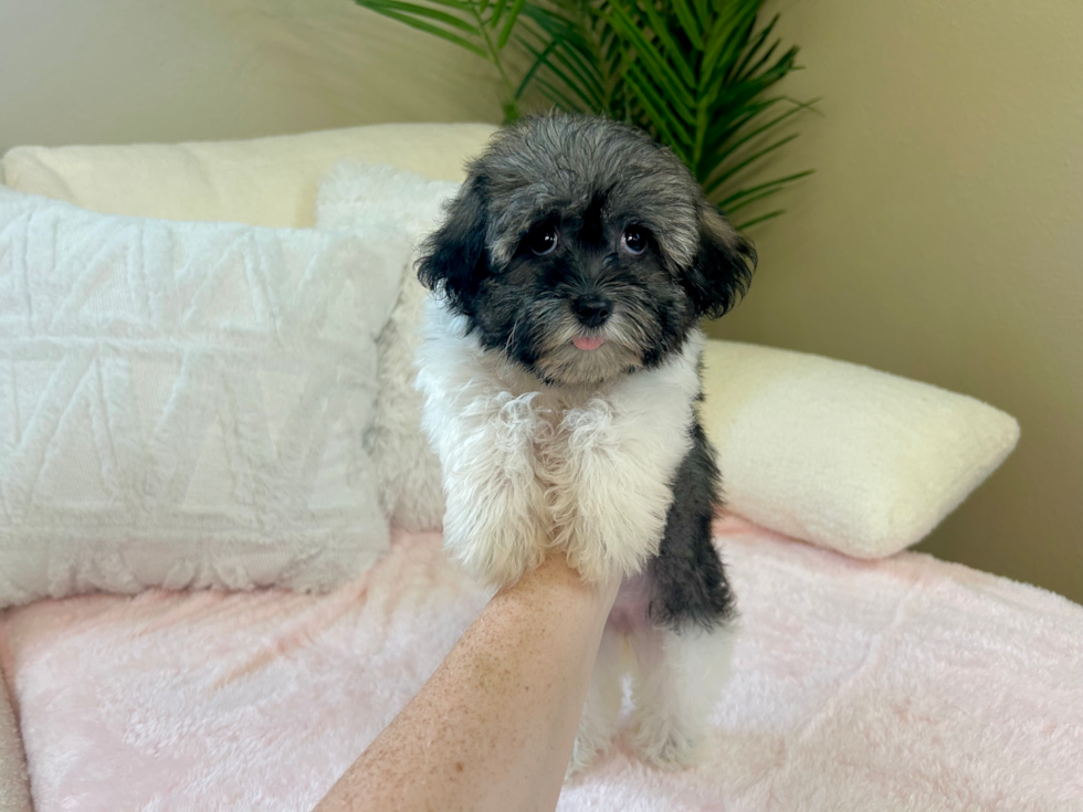
[[[495,584],[553,547],[590,580],[639,572],[658,551],[691,446],[702,334],[662,366],[599,387],[546,387],[482,349],[437,300],[425,339],[418,388],[449,551]]]

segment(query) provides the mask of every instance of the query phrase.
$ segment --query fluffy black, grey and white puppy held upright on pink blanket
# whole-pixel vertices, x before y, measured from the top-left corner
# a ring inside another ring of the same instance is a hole
[[[496,586],[549,549],[588,581],[623,579],[569,773],[616,732],[622,637],[633,745],[660,767],[694,762],[736,616],[711,541],[698,321],[729,309],[755,263],[673,152],[589,117],[497,134],[423,245],[418,388],[446,549]]]

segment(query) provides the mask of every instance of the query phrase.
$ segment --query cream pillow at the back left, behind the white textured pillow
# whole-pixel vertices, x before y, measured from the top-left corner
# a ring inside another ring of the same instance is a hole
[[[313,224],[316,182],[337,160],[364,158],[461,181],[490,124],[383,124],[240,141],[15,147],[4,182],[108,214]]]

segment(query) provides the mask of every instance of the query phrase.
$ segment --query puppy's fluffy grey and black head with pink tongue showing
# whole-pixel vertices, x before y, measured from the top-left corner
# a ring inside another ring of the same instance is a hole
[[[421,281],[542,380],[598,382],[679,350],[756,253],[669,149],[602,118],[529,118],[467,167]]]

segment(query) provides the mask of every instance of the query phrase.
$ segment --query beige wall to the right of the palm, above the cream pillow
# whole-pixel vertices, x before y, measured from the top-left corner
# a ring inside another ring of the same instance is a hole
[[[845,358],[1019,418],[921,549],[1083,601],[1083,3],[778,0],[822,95],[775,167],[719,336]]]

